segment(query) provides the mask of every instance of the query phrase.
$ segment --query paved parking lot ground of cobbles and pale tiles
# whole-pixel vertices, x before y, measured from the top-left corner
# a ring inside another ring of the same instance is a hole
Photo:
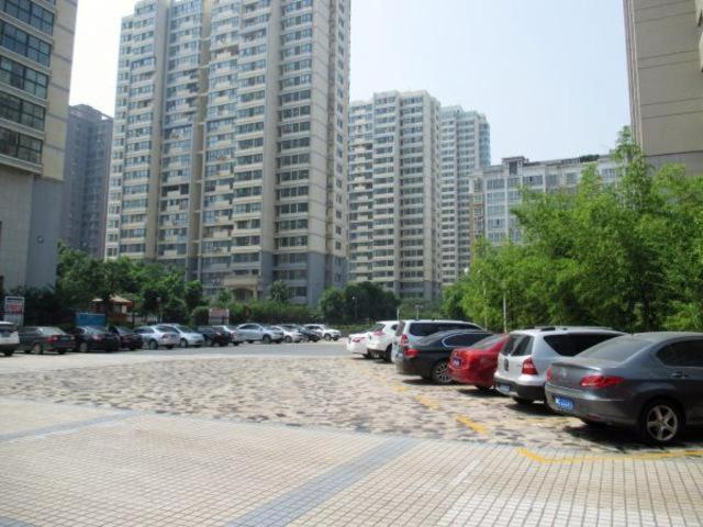
[[[703,434],[645,449],[341,345],[0,360],[0,527],[516,524],[703,525]]]

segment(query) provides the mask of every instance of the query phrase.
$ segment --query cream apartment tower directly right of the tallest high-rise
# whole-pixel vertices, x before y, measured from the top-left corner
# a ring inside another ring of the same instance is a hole
[[[349,110],[349,279],[439,294],[439,103],[377,93]]]

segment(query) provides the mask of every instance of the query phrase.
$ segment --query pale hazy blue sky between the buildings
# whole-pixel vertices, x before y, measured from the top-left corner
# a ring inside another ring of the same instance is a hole
[[[113,113],[120,18],[79,2],[71,103]],[[493,162],[605,153],[629,122],[620,0],[352,0],[352,98],[426,89],[486,113]]]

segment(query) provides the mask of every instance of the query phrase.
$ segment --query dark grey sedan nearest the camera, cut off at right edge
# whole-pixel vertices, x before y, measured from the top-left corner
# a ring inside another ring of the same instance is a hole
[[[703,334],[641,333],[551,365],[547,404],[588,424],[634,427],[666,445],[703,425]]]

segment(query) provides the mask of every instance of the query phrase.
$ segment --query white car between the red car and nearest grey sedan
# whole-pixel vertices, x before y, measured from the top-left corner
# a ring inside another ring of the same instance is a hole
[[[547,369],[555,360],[623,335],[594,327],[542,327],[512,332],[498,356],[495,390],[518,404],[544,401]]]

